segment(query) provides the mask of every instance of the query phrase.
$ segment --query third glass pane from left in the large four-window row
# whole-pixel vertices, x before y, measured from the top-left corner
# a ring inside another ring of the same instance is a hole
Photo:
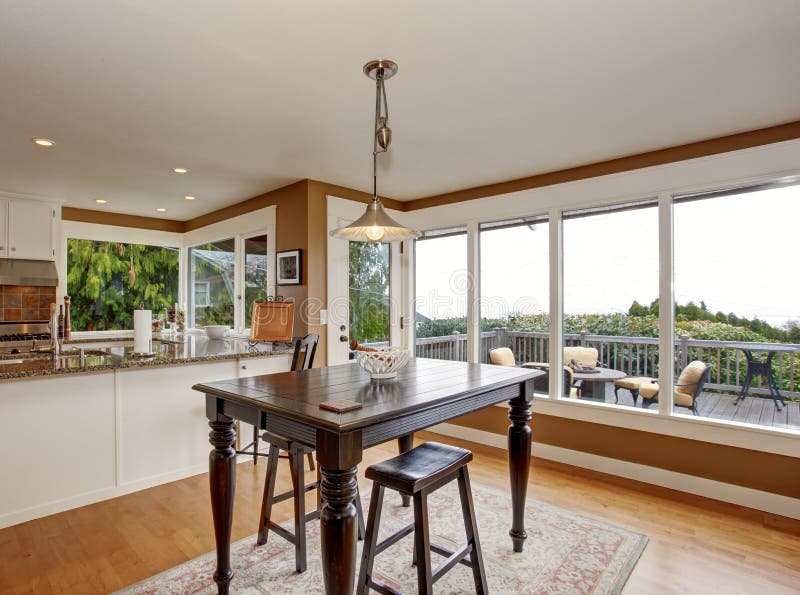
[[[642,397],[658,371],[658,206],[565,212],[563,225],[563,398],[650,406]]]

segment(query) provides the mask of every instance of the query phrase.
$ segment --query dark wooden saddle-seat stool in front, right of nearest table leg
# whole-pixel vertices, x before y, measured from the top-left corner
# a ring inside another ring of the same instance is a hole
[[[374,483],[369,503],[367,536],[364,540],[364,553],[361,557],[361,570],[358,576],[356,592],[359,595],[368,592],[369,589],[384,595],[398,593],[385,583],[374,579],[372,567],[376,555],[410,533],[414,533],[414,563],[417,565],[420,593],[432,593],[433,584],[459,563],[472,568],[476,593],[488,592],[467,471],[467,463],[471,460],[472,453],[466,449],[438,442],[426,442],[400,456],[367,468],[366,477],[373,480]],[[464,527],[467,533],[466,545],[457,552],[451,552],[432,544],[428,525],[428,496],[454,479],[458,479],[461,511],[464,515]],[[413,498],[414,522],[377,543],[381,507],[386,488]],[[432,551],[447,558],[433,571],[431,570],[430,555]]]

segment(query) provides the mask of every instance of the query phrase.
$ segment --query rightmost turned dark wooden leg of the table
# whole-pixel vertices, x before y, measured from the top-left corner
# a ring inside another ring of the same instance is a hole
[[[512,522],[508,534],[514,551],[521,552],[528,534],[525,532],[525,498],[528,492],[528,475],[531,465],[530,396],[520,395],[509,401],[508,418],[508,471],[511,479]]]

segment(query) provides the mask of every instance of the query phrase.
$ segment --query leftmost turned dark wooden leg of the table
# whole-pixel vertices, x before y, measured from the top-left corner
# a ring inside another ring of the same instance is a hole
[[[227,595],[233,578],[231,568],[231,525],[233,497],[236,491],[236,440],[234,420],[224,415],[208,422],[211,426],[208,441],[214,447],[208,455],[208,478],[211,486],[211,514],[214,517],[214,537],[217,542],[217,571],[214,582],[220,595]]]

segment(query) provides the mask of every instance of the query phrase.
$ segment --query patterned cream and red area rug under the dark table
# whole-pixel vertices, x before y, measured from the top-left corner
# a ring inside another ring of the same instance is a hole
[[[367,492],[367,490],[365,490]],[[561,508],[528,500],[525,551],[511,550],[509,494],[472,484],[479,537],[492,593],[619,593],[647,544],[647,537]],[[362,492],[364,511],[369,494]],[[465,542],[456,482],[429,498],[431,542],[457,550]],[[379,539],[413,519],[413,507],[387,490]],[[289,524],[287,523],[287,527]],[[309,523],[308,570],[294,572],[294,549],[270,534],[266,546],[255,547],[255,535],[233,545],[231,591],[256,594],[322,593],[319,523]],[[360,551],[359,543],[359,551]],[[413,536],[405,537],[375,560],[375,576],[404,593],[417,592],[416,567],[411,565]],[[432,554],[435,567],[443,558]],[[130,594],[216,593],[211,578],[216,564],[209,553],[118,591]],[[357,575],[356,575],[357,576]],[[474,593],[472,572],[457,565],[434,585],[436,593]]]

